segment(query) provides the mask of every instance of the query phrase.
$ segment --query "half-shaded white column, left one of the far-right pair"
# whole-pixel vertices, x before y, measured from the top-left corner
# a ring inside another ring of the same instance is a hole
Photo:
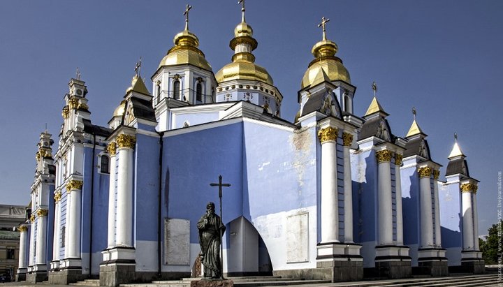
[[[473,184],[461,184],[463,250],[474,250]]]

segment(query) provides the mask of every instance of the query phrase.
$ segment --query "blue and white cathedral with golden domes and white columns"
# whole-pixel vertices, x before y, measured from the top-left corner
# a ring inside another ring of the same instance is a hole
[[[214,73],[185,29],[148,89],[140,65],[108,126],[92,123],[86,83],[68,83],[57,149],[44,131],[19,228],[17,281],[101,286],[201,275],[197,222],[223,207],[224,274],[354,281],[481,273],[476,192],[457,139],[432,159],[411,119],[393,133],[377,96],[355,115],[356,87],[326,37],[300,80],[298,113],[255,64],[242,20]],[[230,54],[230,53],[229,53]],[[151,92],[152,91],[152,92]],[[455,127],[453,127],[455,128]],[[440,175],[446,163],[446,174]],[[219,201],[218,189],[223,196]]]

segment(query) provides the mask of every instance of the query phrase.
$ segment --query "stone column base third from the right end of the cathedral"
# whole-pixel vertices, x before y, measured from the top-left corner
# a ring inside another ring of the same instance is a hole
[[[409,278],[412,276],[409,247],[396,245],[376,246],[375,270],[377,277],[389,279]]]

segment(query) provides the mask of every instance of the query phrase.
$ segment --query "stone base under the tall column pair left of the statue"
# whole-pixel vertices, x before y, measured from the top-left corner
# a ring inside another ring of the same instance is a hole
[[[113,247],[101,251],[100,286],[119,286],[136,279],[136,250],[134,247]]]

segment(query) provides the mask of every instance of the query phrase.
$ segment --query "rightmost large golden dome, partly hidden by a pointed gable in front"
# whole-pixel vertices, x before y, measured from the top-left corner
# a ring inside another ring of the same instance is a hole
[[[309,67],[302,77],[301,89],[313,84],[320,69],[323,69],[330,81],[343,80],[351,84],[351,77],[342,64],[342,60],[335,57],[337,44],[330,40],[319,41],[312,47],[311,52],[316,59],[309,63]]]

